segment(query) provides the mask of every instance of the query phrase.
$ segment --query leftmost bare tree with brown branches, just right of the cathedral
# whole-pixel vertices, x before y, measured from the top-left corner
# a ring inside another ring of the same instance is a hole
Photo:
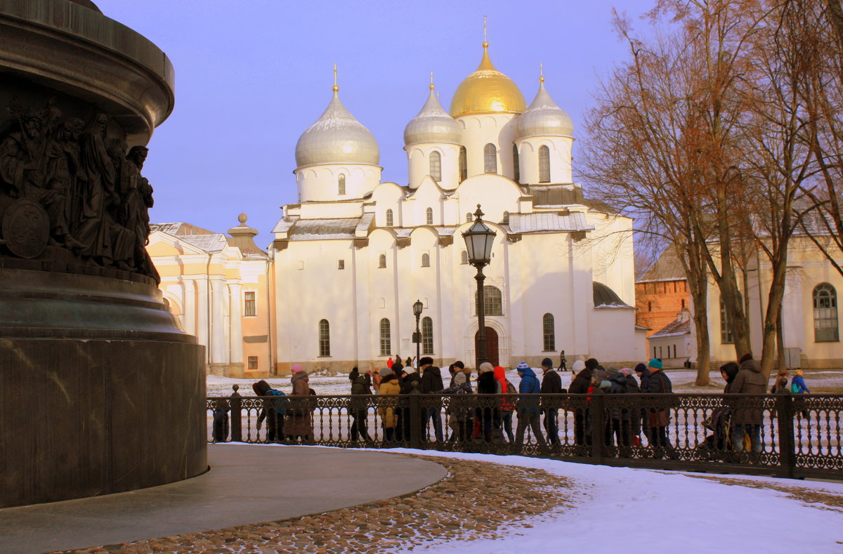
[[[697,385],[709,382],[707,275],[700,236],[702,217],[689,149],[695,114],[681,100],[687,97],[692,71],[677,62],[682,44],[659,36],[645,45],[631,35],[626,19],[615,24],[626,39],[632,60],[601,83],[598,106],[588,115],[589,138],[582,164],[593,194],[636,219],[639,235],[664,240],[678,248],[691,297],[697,309]],[[683,60],[688,61],[688,60]]]

